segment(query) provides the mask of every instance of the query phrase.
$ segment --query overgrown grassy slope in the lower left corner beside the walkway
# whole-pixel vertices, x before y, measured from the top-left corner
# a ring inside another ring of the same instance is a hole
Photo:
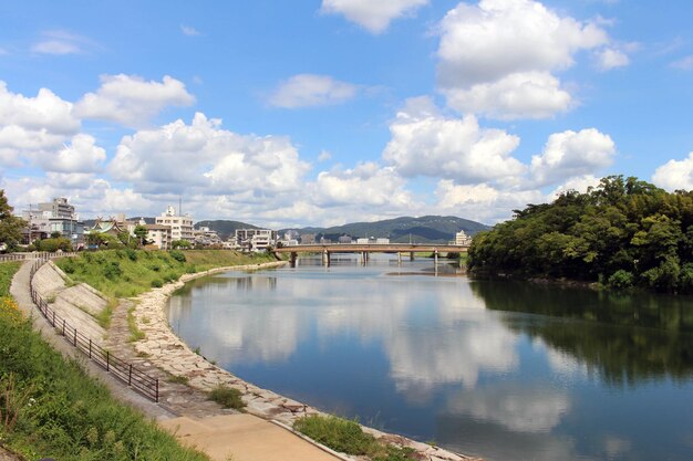
[[[0,264],[0,389],[22,404],[8,408],[8,398],[0,399],[0,411],[15,416],[11,427],[0,427],[3,447],[27,459],[208,461],[116,401],[32,331],[8,296],[18,268]]]

